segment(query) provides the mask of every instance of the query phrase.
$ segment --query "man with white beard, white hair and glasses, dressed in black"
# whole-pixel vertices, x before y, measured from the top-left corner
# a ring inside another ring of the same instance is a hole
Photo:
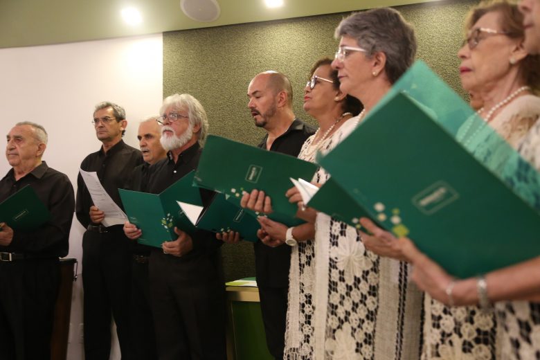
[[[163,100],[158,118],[161,145],[167,157],[150,168],[148,192],[159,194],[197,168],[208,130],[206,112],[189,94]],[[213,192],[201,190],[206,205]],[[124,231],[141,236],[133,224]],[[221,241],[198,230],[190,236],[174,228],[178,237],[163,242],[150,255],[150,301],[160,360],[226,359],[225,288]]]

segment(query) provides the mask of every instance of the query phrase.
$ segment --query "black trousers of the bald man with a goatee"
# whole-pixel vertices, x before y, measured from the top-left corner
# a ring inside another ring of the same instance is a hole
[[[287,287],[259,287],[260,309],[267,346],[274,359],[283,359],[287,327]]]

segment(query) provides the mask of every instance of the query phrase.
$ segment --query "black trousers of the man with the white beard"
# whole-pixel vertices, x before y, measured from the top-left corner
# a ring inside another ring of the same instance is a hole
[[[150,300],[160,360],[225,360],[225,287],[221,278],[197,281],[179,258],[152,251]]]

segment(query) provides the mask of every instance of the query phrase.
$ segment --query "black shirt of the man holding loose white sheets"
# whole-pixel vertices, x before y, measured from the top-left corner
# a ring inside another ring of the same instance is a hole
[[[141,163],[143,163],[141,152],[120,140],[107,153],[103,152],[103,147],[101,147],[98,152],[89,154],[80,164],[80,168],[84,171],[97,172],[98,179],[100,179],[101,185],[105,188],[107,194],[116,205],[123,208],[118,188],[127,187],[133,169]],[[77,178],[77,185],[75,213],[82,226],[87,228],[90,224],[89,213],[93,202],[80,174]]]

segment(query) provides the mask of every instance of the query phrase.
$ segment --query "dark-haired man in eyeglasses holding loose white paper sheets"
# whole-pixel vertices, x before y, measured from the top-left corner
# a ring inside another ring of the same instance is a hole
[[[125,110],[113,102],[100,102],[93,112],[93,127],[102,145],[81,163],[84,171],[97,172],[114,202],[122,207],[118,188],[126,188],[133,169],[143,163],[139,150],[123,142],[127,127]],[[109,359],[111,314],[116,323],[120,352],[132,355],[129,299],[132,244],[122,225],[104,226],[105,213],[93,205],[81,175],[78,177],[75,214],[87,228],[82,236],[82,285],[84,290],[84,358]]]

